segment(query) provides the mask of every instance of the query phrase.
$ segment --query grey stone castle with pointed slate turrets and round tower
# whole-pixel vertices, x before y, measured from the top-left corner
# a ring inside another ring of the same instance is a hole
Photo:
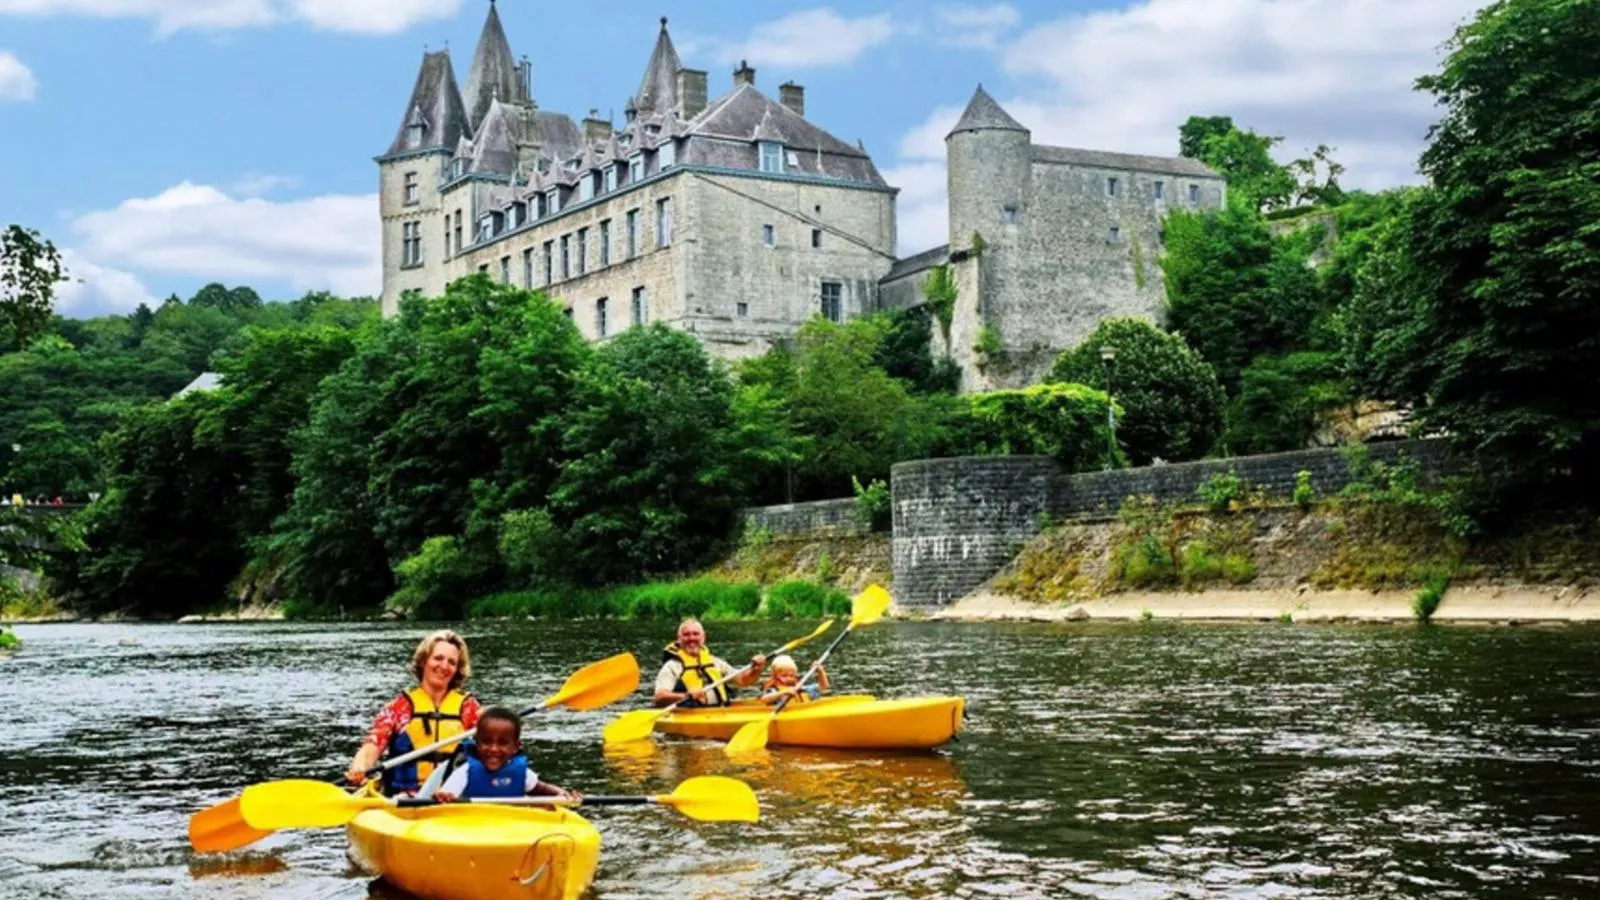
[[[1107,315],[1158,322],[1165,211],[1222,203],[1195,160],[1038,146],[978,88],[946,139],[950,240],[901,259],[898,189],[805,117],[805,88],[773,101],[741,62],[707,94],[662,18],[621,128],[542,110],[491,0],[466,90],[448,51],[426,53],[378,157],[384,314],[488,272],[546,290],[592,341],[666,322],[739,359],[819,314],[925,303],[947,264],[936,344],[963,389],[1018,386]]]

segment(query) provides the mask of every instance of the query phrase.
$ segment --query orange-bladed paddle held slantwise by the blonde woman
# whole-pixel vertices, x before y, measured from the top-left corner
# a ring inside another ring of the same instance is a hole
[[[578,669],[566,679],[566,682],[562,684],[560,690],[544,698],[542,703],[522,709],[520,714],[531,716],[533,713],[549,709],[550,706],[566,706],[568,709],[576,711],[598,709],[608,703],[616,703],[635,690],[638,690],[638,660],[635,660],[632,653],[618,653],[616,657],[608,657]],[[459,735],[434,741],[403,756],[384,761],[382,764],[368,769],[366,777],[373,778],[387,769],[405,765],[406,762],[427,756],[443,746],[462,741],[475,733],[477,729],[469,729]],[[338,783],[342,783],[342,778],[333,781],[333,785]],[[270,834],[270,831],[251,826],[245,820],[238,804],[240,798],[232,798],[194,814],[189,818],[189,846],[202,854],[222,854],[227,850],[237,850]]]

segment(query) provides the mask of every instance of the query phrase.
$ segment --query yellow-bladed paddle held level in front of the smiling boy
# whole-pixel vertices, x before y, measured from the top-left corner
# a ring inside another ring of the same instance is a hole
[[[570,801],[546,798],[472,798],[453,802],[498,806],[669,806],[699,822],[758,822],[755,791],[736,778],[701,775],[680,783],[670,794],[592,796]],[[291,778],[245,788],[240,807],[253,828],[338,828],[368,809],[445,806],[434,798],[381,798],[347,794],[336,785]]]

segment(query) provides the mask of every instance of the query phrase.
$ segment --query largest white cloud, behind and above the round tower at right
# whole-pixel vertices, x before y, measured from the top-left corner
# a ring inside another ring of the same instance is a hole
[[[1040,144],[1173,155],[1189,115],[1232,115],[1242,128],[1282,135],[1280,159],[1328,144],[1347,168],[1346,187],[1390,187],[1419,181],[1416,157],[1438,115],[1411,85],[1438,69],[1440,46],[1480,5],[1144,0],[1043,22],[1000,45],[1000,66],[1022,88],[990,93]],[[912,128],[901,170],[942,160],[957,114],[942,106]],[[933,208],[942,218],[938,203],[909,207],[902,195],[901,234],[926,232]],[[923,250],[904,240],[901,248]]]

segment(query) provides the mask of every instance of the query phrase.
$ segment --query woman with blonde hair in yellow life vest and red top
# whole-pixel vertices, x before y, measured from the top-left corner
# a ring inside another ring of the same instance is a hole
[[[402,692],[378,711],[344,777],[352,785],[360,785],[379,757],[405,756],[475,727],[483,708],[477,697],[461,689],[470,674],[472,658],[459,634],[442,629],[424,637],[411,655],[416,687]],[[421,759],[389,769],[382,777],[384,793],[416,793],[434,767],[450,759],[454,749],[456,745],[442,746]]]

